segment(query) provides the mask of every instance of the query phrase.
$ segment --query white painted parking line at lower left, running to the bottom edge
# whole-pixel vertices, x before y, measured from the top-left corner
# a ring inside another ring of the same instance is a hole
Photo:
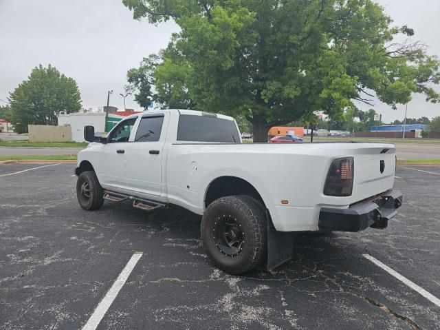
[[[124,269],[122,269],[121,274],[119,274],[109,291],[107,291],[107,294],[104,296],[104,298],[102,298],[94,313],[91,314],[89,320],[83,327],[83,330],[95,330],[98,327],[98,324],[101,322],[105,313],[107,313],[107,310],[111,306],[113,300],[115,300],[116,296],[118,296],[120,289],[122,289],[124,286],[127,278],[129,278],[131,271],[133,271],[140,257],[142,257],[142,252],[137,252],[131,256],[129,262],[127,262]]]

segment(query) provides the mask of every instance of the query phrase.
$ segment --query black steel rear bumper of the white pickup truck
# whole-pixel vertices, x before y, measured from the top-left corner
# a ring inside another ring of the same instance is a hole
[[[320,209],[318,227],[322,231],[361,231],[368,227],[385,229],[397,214],[402,194],[388,190],[379,196],[351,205],[348,209]]]

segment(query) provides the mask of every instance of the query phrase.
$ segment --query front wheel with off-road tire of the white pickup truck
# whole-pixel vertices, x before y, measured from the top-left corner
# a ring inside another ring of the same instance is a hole
[[[83,189],[85,186],[89,189],[88,194]],[[85,171],[78,176],[78,181],[76,181],[76,197],[80,206],[88,211],[102,207],[104,203],[104,189],[99,184],[94,171]]]

